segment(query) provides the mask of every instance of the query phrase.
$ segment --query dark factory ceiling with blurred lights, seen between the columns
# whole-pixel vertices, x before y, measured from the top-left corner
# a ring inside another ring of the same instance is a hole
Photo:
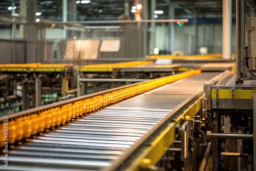
[[[125,0],[91,0],[88,4],[77,3],[77,20],[115,20],[124,14]],[[149,11],[151,10],[151,1],[148,2]],[[10,7],[15,6],[15,13],[19,13],[19,0],[2,0],[0,2],[0,16],[10,17]],[[198,18],[220,18],[222,17],[222,0],[189,0],[189,1],[169,1],[157,0],[156,10],[162,10],[157,19],[168,19],[169,4],[175,6],[175,18],[192,18],[196,13]],[[130,0],[130,14],[134,0]],[[9,8],[9,9],[8,9]],[[236,1],[232,1],[232,16],[236,10]],[[255,15],[256,0],[247,0],[246,14]],[[62,1],[42,1],[37,0],[37,12],[41,15],[38,18],[58,21],[62,20]],[[70,12],[70,11],[69,11]],[[17,15],[18,16],[18,15]],[[150,13],[148,16],[151,16]]]

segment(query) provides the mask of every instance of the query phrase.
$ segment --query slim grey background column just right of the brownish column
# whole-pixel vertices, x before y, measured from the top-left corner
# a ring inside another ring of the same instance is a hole
[[[156,0],[151,0],[151,19],[155,19]],[[153,54],[156,48],[156,23],[151,23],[151,38],[150,38],[150,54]]]

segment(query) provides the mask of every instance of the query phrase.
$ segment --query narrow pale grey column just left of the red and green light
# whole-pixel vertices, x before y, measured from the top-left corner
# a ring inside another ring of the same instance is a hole
[[[175,8],[174,5],[172,3],[169,4],[169,19],[175,19]],[[168,29],[169,29],[169,49],[167,49],[167,53],[172,54],[172,52],[174,51],[174,37],[175,37],[175,25],[174,23],[169,23],[168,25]]]

